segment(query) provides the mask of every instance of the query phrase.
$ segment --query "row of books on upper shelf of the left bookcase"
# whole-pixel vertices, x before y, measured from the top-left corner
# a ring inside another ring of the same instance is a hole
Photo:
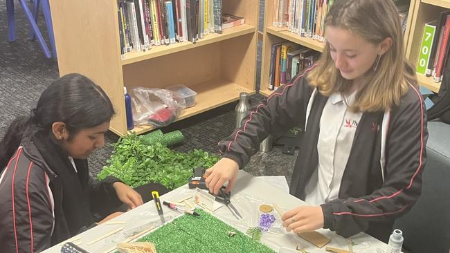
[[[120,53],[183,41],[244,24],[222,13],[222,0],[118,0]]]

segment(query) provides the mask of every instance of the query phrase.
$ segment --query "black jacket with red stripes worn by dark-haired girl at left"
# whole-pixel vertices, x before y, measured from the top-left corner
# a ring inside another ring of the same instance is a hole
[[[77,170],[84,175],[80,182],[86,190],[77,194],[89,194],[88,205],[94,215],[94,205],[100,207],[118,201],[112,187],[118,179],[93,180],[87,161],[85,165]],[[60,178],[48,167],[33,142],[24,140],[3,169],[0,196],[1,252],[41,252],[75,236],[69,231],[68,218],[64,215]],[[88,228],[83,226],[79,232]]]

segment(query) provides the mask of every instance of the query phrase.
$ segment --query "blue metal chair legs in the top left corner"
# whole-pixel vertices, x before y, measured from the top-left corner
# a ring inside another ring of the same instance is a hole
[[[44,2],[46,2],[46,3],[44,3]],[[52,57],[51,52],[50,52],[50,50],[48,50],[48,46],[45,43],[44,37],[42,37],[42,33],[40,32],[39,27],[36,24],[35,18],[33,17],[33,13],[28,8],[26,0],[19,0],[19,3],[22,6],[22,8],[24,9],[26,18],[28,19],[28,22],[30,23],[31,28],[33,29],[33,34],[37,37],[37,40],[39,41],[39,45],[41,46],[42,52],[44,53],[45,57],[51,58]],[[42,7],[43,9],[47,8],[48,10],[50,10],[50,6],[48,5],[48,0],[43,0],[42,6],[43,6]],[[14,0],[6,0],[6,12],[7,12],[7,16],[8,16],[8,40],[10,42],[12,42],[17,39],[15,17],[14,17]],[[45,13],[44,13],[44,16],[46,16]],[[37,17],[37,15],[36,15],[36,17]],[[45,19],[48,24],[48,17],[45,17]],[[51,19],[49,22],[51,24]],[[53,28],[51,30],[52,30],[51,33],[53,34]],[[52,39],[53,38],[51,38],[51,40]]]

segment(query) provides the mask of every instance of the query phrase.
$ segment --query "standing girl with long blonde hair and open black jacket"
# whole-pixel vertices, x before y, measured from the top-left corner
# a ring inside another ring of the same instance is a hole
[[[217,191],[249,162],[267,135],[305,129],[290,193],[308,205],[282,216],[287,231],[367,232],[387,241],[395,218],[420,196],[426,112],[405,59],[391,0],[336,0],[325,19],[321,59],[278,88],[219,142],[206,171]]]

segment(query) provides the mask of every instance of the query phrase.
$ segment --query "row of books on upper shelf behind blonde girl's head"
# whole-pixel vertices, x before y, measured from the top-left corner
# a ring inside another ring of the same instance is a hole
[[[334,0],[275,0],[273,1],[272,25],[287,27],[301,37],[323,41],[325,17]],[[403,32],[406,30],[409,0],[394,0],[399,12]]]

